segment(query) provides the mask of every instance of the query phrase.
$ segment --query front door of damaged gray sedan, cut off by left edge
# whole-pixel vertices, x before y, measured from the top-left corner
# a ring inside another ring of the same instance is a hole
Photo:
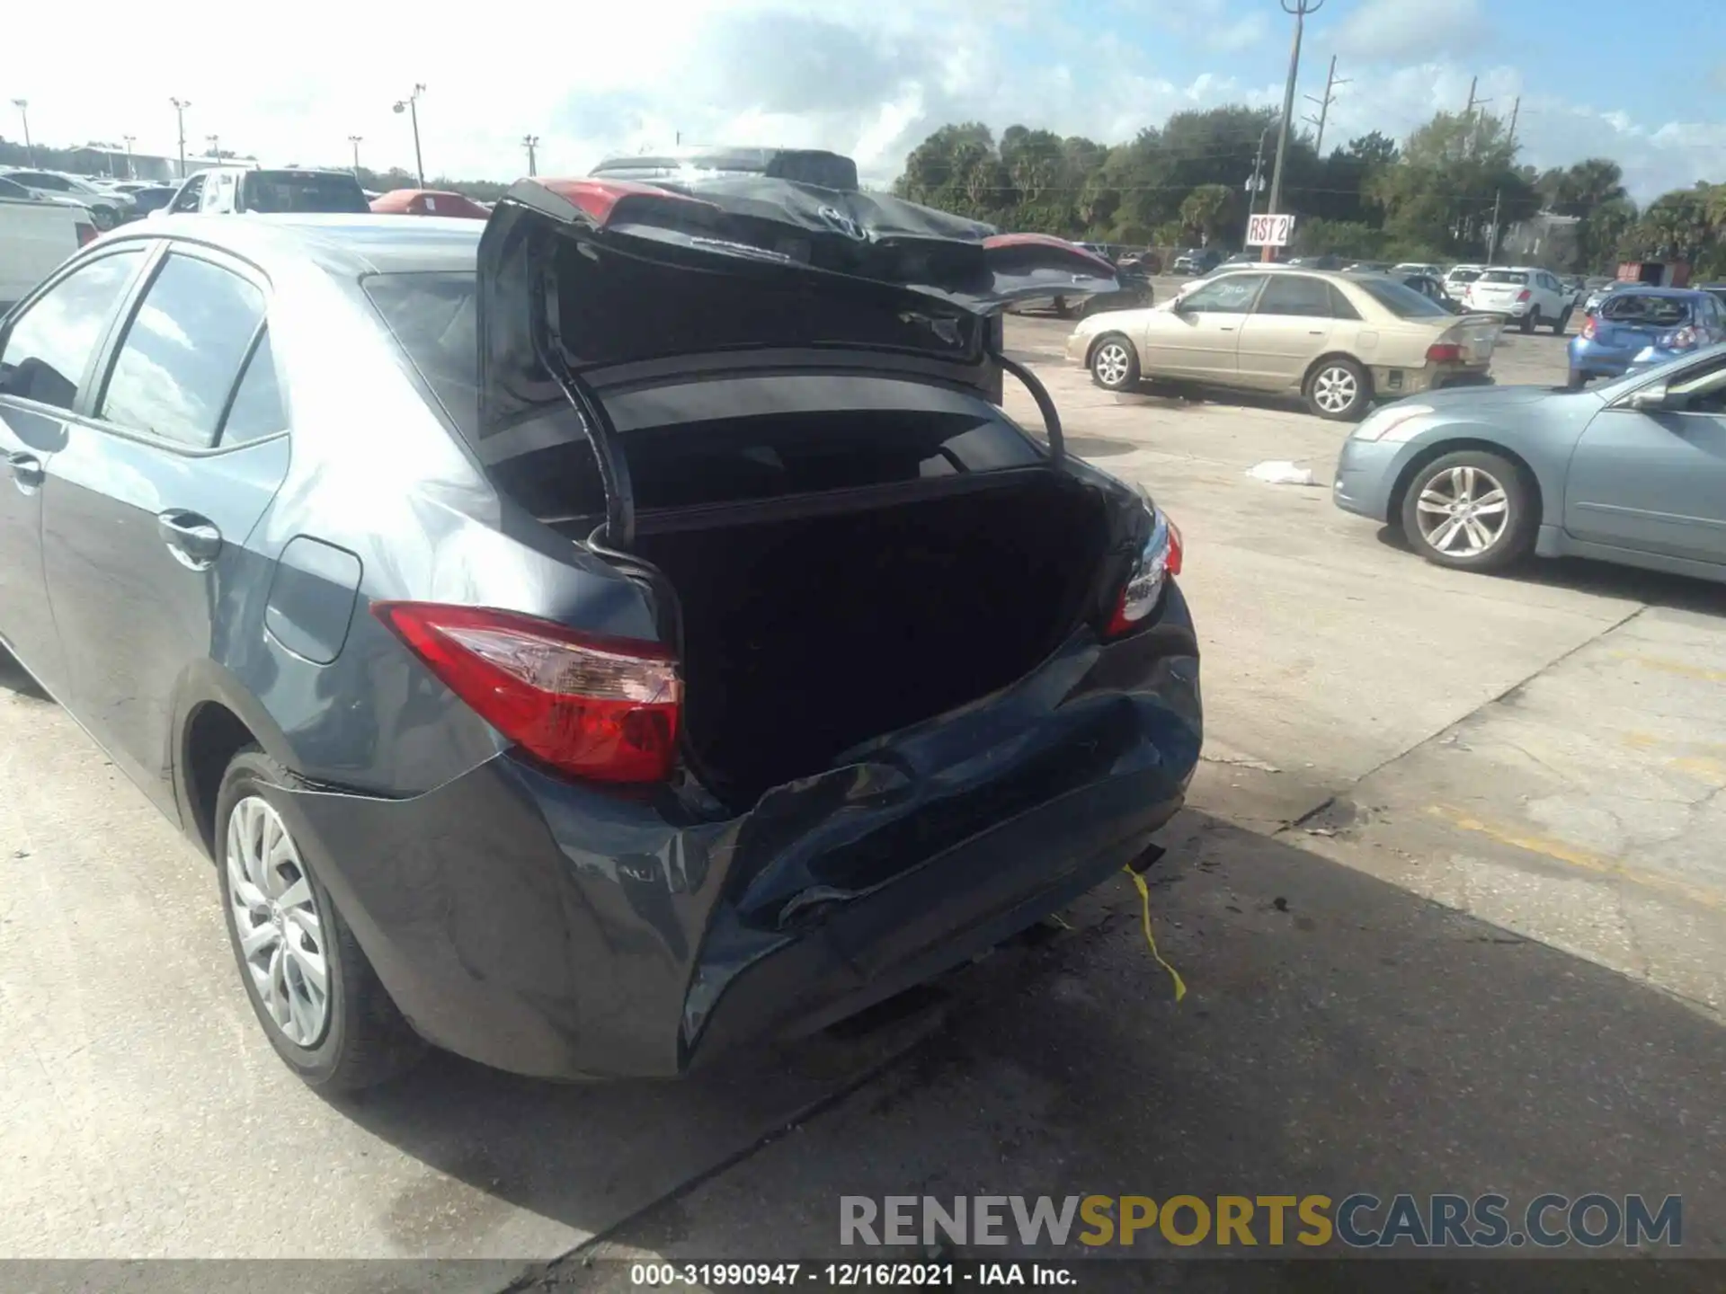
[[[0,637],[54,695],[66,666],[41,573],[41,487],[143,264],[142,243],[79,262],[0,336]]]

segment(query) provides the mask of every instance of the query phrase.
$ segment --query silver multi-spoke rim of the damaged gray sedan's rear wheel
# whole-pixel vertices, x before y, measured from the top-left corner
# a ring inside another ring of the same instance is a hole
[[[228,814],[228,909],[240,961],[264,1013],[297,1047],[316,1047],[330,1023],[324,918],[281,814],[247,795]]]

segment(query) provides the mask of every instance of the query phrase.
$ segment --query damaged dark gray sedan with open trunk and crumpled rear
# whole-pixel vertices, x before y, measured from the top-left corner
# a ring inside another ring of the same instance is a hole
[[[677,1075],[1155,852],[1179,535],[994,317],[1108,271],[961,224],[523,181],[483,236],[136,226],[0,324],[0,635],[212,856],[307,1082]]]

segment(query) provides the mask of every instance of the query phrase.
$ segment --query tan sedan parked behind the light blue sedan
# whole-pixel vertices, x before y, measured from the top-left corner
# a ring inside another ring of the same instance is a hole
[[[1084,319],[1067,357],[1108,390],[1167,378],[1298,392],[1320,418],[1376,399],[1488,383],[1498,323],[1455,316],[1386,274],[1253,269],[1179,300]]]

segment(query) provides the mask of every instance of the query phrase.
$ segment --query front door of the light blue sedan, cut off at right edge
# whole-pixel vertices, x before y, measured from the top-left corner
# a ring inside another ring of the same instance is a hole
[[[1671,407],[1628,400],[1583,431],[1564,492],[1578,538],[1704,562],[1726,562],[1726,359],[1669,380]]]

